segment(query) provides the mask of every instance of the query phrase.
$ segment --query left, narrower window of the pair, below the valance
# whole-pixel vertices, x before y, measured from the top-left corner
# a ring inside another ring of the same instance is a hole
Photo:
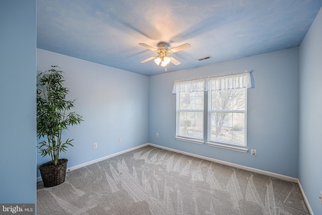
[[[203,91],[177,94],[177,139],[203,144],[203,94]]]

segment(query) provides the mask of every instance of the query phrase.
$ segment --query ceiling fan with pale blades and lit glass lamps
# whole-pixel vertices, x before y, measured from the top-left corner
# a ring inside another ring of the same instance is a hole
[[[173,64],[175,65],[179,65],[181,62],[179,60],[177,60],[176,58],[172,57],[172,56],[167,56],[167,54],[172,54],[172,53],[175,53],[177,51],[181,51],[181,50],[184,50],[186,48],[190,48],[191,45],[189,43],[185,43],[185,44],[182,44],[180,46],[177,46],[173,49],[169,49],[168,48],[168,45],[164,42],[160,42],[158,44],[158,48],[153,48],[152,46],[149,46],[149,45],[146,45],[145,43],[139,43],[139,45],[145,47],[145,48],[148,48],[154,52],[157,53],[156,56],[153,56],[153,57],[149,57],[145,60],[142,60],[140,63],[145,63],[149,60],[152,60],[154,59],[154,62],[157,64],[157,65],[161,65],[161,66],[167,66],[170,62],[172,62]]]

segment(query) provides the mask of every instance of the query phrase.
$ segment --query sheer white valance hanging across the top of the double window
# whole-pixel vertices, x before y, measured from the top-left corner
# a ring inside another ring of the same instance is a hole
[[[175,81],[172,93],[251,88],[251,72],[251,70],[245,70],[208,78]]]

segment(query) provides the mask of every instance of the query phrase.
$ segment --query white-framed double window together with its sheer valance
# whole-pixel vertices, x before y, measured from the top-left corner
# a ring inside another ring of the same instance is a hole
[[[248,70],[176,81],[173,88],[173,93],[177,94],[176,139],[204,144],[204,136],[207,136],[208,146],[246,153],[250,73]],[[204,95],[208,96],[204,98]]]

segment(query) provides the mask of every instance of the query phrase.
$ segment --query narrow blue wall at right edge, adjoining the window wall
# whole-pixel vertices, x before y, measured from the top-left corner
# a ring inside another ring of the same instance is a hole
[[[322,214],[322,10],[300,46],[298,179],[314,214]]]

